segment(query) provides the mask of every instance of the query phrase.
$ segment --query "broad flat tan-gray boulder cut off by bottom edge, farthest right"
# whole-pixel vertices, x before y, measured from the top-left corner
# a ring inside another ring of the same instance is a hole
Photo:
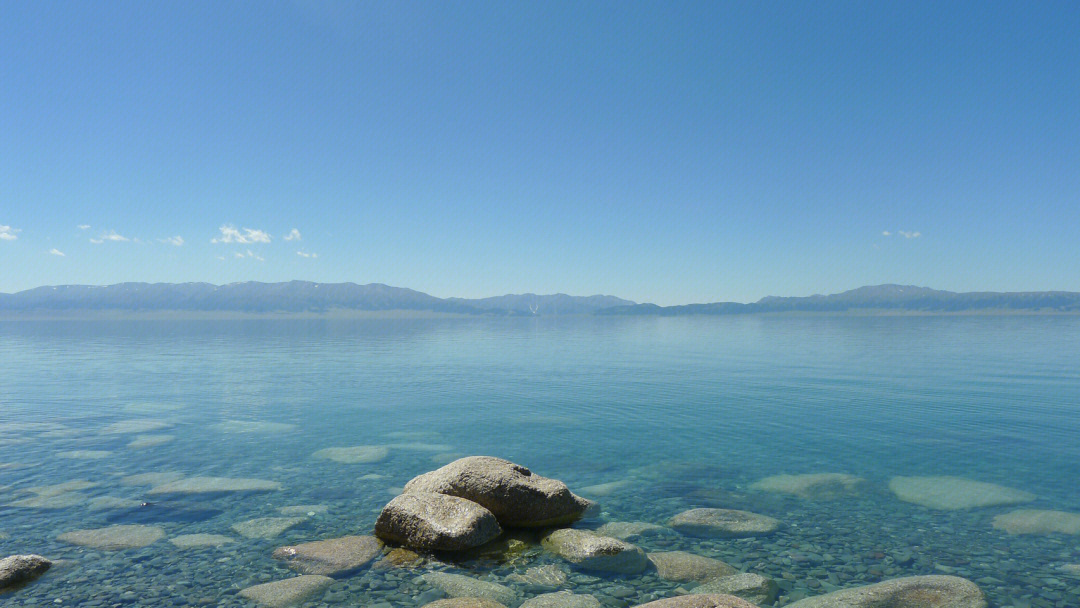
[[[787,608],[986,608],[978,586],[959,577],[906,577],[808,597]]]

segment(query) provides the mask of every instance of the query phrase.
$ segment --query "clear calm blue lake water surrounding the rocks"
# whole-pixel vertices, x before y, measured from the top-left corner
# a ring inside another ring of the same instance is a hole
[[[767,575],[781,582],[781,602],[955,572],[994,606],[1080,606],[1080,578],[1061,569],[1080,563],[1080,537],[1010,536],[990,523],[1014,506],[936,511],[888,489],[895,475],[957,475],[1037,495],[1025,506],[1080,512],[1080,317],[0,322],[0,504],[32,496],[29,487],[98,484],[66,497],[85,500],[69,506],[0,506],[0,554],[72,562],[0,596],[12,606],[247,605],[238,590],[292,576],[274,548],[368,533],[393,488],[474,454],[573,489],[623,482],[580,527],[663,524],[697,506],[778,517],[787,526],[771,537],[639,544]],[[104,432],[148,419],[167,425]],[[252,424],[264,422],[279,425]],[[130,447],[140,434],[173,440]],[[311,456],[355,445],[390,445],[390,456]],[[123,477],[163,471],[284,489],[168,499],[179,515],[154,524],[166,538],[235,539],[220,548],[162,540],[99,552],[56,539],[132,523],[89,501],[151,499]],[[828,502],[748,488],[820,472],[867,483]],[[230,529],[297,504],[327,512],[272,539]],[[524,599],[535,593],[507,576],[549,563],[559,560],[534,551],[432,568],[508,584]],[[568,589],[612,607],[680,586],[568,571]],[[433,595],[418,573],[365,569],[311,605],[419,606]]]

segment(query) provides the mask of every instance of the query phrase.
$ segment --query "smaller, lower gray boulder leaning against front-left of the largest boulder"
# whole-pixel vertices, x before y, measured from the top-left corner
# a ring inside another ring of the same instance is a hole
[[[490,511],[471,500],[407,492],[382,508],[375,536],[427,551],[461,551],[495,539],[502,529]]]

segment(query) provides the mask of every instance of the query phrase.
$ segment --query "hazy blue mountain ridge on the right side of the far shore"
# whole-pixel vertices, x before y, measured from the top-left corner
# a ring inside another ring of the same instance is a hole
[[[1075,292],[970,292],[955,293],[914,285],[874,285],[828,296],[768,296],[753,303],[714,302],[659,307],[613,307],[598,314],[751,314],[760,312],[977,312],[1042,311],[1080,312],[1080,293]]]

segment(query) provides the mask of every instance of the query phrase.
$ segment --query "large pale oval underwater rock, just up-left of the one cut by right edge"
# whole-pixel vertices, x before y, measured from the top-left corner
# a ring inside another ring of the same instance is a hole
[[[1036,499],[1024,490],[950,476],[893,477],[889,489],[904,502],[943,511],[1021,504]]]

